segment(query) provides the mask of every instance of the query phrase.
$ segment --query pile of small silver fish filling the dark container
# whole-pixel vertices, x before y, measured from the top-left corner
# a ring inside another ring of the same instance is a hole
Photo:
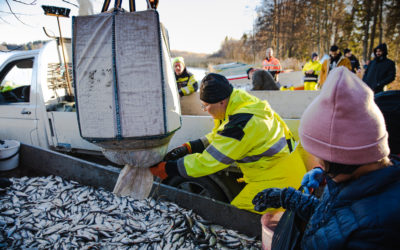
[[[118,197],[58,176],[11,181],[0,190],[0,248],[261,248],[171,202]]]

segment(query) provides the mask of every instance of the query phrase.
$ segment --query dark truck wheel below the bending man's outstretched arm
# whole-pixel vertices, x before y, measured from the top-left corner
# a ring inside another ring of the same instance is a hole
[[[229,202],[221,188],[208,177],[185,179],[174,176],[165,180],[164,184],[215,200]]]

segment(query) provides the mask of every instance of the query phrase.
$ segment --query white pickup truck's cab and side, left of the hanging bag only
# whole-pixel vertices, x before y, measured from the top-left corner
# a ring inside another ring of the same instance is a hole
[[[58,151],[101,150],[79,135],[57,41],[39,50],[0,54],[0,60],[0,138]]]

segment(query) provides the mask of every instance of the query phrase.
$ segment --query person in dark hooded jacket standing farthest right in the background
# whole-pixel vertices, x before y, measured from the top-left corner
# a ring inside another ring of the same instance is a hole
[[[376,93],[382,92],[385,85],[396,78],[395,63],[387,58],[387,46],[385,43],[374,49],[375,58],[365,70],[363,81]]]

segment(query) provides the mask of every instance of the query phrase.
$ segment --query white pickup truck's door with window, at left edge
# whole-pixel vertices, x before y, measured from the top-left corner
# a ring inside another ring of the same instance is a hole
[[[34,57],[16,59],[0,72],[0,139],[38,143],[33,66]]]

